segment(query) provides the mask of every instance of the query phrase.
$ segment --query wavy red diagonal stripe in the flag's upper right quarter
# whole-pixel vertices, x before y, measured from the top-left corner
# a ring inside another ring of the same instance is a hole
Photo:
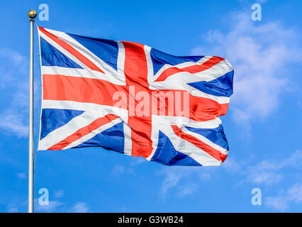
[[[184,67],[182,69],[179,69],[178,67],[171,67],[167,70],[164,70],[164,72],[160,74],[160,77],[157,77],[157,79],[155,79],[155,82],[164,81],[165,79],[172,76],[173,74],[176,74],[177,72],[190,72],[191,74],[193,74],[196,72],[208,70],[209,68],[213,67],[214,65],[218,64],[223,60],[225,60],[223,57],[211,57],[209,60],[207,60],[201,65],[192,65],[189,67]]]

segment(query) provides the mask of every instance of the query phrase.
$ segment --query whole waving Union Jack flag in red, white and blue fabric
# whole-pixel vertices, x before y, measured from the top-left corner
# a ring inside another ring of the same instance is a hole
[[[220,165],[219,116],[233,94],[223,57],[177,57],[140,43],[38,27],[38,150],[101,147],[164,165]]]

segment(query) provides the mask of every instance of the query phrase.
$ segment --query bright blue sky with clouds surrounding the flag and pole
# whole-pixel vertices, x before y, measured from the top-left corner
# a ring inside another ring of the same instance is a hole
[[[262,21],[252,21],[252,4]],[[145,43],[174,55],[218,55],[235,70],[220,167],[166,167],[101,148],[40,152],[37,212],[301,212],[301,1],[1,1],[0,211],[26,212],[28,10],[45,28]],[[36,32],[36,31],[35,31]],[[36,33],[35,33],[36,34]],[[36,44],[35,40],[35,44]],[[40,83],[35,49],[35,146]],[[38,204],[47,188],[50,205]],[[251,191],[261,189],[262,205]]]

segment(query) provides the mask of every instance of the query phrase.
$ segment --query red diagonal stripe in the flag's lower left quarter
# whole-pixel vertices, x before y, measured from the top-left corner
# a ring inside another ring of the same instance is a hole
[[[118,118],[118,116],[115,116],[113,114],[107,114],[102,118],[97,118],[95,121],[92,121],[88,126],[80,128],[78,131],[76,131],[72,135],[67,136],[67,138],[61,140],[59,143],[53,145],[47,150],[62,150],[75,140],[82,138],[84,135],[91,133],[92,131],[96,130],[96,128],[104,126],[104,124],[109,123],[115,120],[116,118]]]

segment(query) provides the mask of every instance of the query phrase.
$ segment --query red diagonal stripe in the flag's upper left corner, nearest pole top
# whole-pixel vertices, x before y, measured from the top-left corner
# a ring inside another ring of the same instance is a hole
[[[45,28],[41,28],[38,27],[40,29],[40,31],[42,31],[45,35],[47,35],[49,38],[51,38],[52,40],[55,41],[55,43],[57,43],[58,45],[60,45],[62,48],[64,48],[65,50],[67,50],[68,52],[70,52],[72,55],[74,55],[74,57],[77,57],[77,59],[79,59],[81,62],[84,63],[84,65],[86,65],[87,67],[89,67],[90,70],[95,70],[95,71],[99,71],[99,72],[103,72],[101,69],[99,69],[99,67],[97,67],[96,65],[94,65],[93,62],[91,62],[87,57],[85,57],[84,55],[82,55],[79,51],[77,51],[76,49],[72,48],[71,45],[69,45],[68,43],[66,43],[65,41],[61,40],[60,38],[57,38],[57,36],[53,35],[52,33],[49,33],[48,31],[45,30]],[[104,72],[103,72],[104,73]]]

